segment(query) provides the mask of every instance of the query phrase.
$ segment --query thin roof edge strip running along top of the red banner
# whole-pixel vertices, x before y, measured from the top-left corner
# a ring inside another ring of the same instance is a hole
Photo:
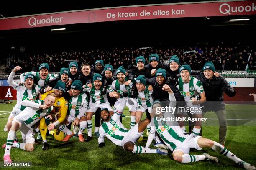
[[[216,3],[216,2],[238,2],[238,1],[248,1],[248,0],[216,0],[216,1],[202,1],[202,2],[177,2],[177,3],[163,3],[163,4],[147,4],[147,5],[129,5],[129,6],[118,6],[118,7],[102,7],[102,8],[90,8],[85,10],[70,10],[70,11],[61,11],[54,13],[41,13],[41,14],[31,14],[31,15],[20,15],[15,17],[6,17],[0,18],[0,20],[9,19],[9,18],[20,18],[20,17],[29,17],[37,15],[49,15],[49,14],[59,14],[59,13],[73,13],[87,10],[105,10],[105,9],[114,9],[114,8],[124,8],[124,7],[145,7],[145,6],[159,6],[159,5],[182,5],[182,4],[197,4],[197,3]]]

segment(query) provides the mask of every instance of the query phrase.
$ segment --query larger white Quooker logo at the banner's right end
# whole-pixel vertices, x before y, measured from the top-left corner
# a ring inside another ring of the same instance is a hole
[[[247,6],[230,6],[229,4],[227,3],[223,3],[220,5],[220,13],[222,14],[229,14],[231,15],[231,13],[242,13],[244,11],[246,12],[251,12],[251,11],[256,11],[256,6],[254,5],[254,3],[252,3],[252,5],[247,5]]]

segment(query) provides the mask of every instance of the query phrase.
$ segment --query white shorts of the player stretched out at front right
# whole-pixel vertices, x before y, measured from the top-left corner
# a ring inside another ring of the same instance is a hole
[[[189,154],[190,148],[195,148],[197,150],[201,150],[200,146],[197,143],[198,138],[201,136],[197,136],[194,134],[187,134],[186,139],[183,141],[182,144],[178,145],[173,152],[175,151],[182,151],[184,154]]]

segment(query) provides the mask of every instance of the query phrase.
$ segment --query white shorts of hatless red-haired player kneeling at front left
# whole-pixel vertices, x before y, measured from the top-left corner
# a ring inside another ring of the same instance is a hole
[[[27,126],[25,122],[23,122],[23,120],[21,120],[21,118],[19,118],[18,116],[13,118],[13,122],[20,122],[20,133],[22,136],[22,141],[23,143],[35,143],[35,138],[34,138],[34,131],[31,127]]]

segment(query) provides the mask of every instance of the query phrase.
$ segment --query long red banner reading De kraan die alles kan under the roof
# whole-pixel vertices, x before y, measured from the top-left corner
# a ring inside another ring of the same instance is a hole
[[[256,15],[256,0],[111,7],[0,18],[0,30],[119,20]]]

